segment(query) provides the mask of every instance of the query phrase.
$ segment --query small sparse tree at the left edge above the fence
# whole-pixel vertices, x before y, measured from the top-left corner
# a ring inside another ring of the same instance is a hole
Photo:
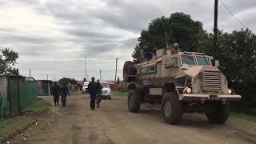
[[[0,49],[0,74],[16,74],[12,67],[16,64],[18,53],[8,48]]]

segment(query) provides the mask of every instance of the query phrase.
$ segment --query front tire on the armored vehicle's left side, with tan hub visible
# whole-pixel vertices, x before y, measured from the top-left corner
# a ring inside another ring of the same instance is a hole
[[[178,125],[182,119],[182,103],[178,100],[178,94],[170,92],[162,97],[161,114],[166,123]]]

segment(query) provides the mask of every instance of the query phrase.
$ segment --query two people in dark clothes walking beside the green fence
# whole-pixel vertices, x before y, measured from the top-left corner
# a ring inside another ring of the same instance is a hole
[[[70,96],[70,91],[66,85],[60,87],[57,82],[54,82],[54,86],[51,89],[51,94],[54,96],[54,105],[58,106],[59,97],[62,97],[62,106],[66,106],[66,97]]]

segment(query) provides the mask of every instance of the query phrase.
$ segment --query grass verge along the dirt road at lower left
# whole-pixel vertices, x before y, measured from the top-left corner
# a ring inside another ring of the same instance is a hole
[[[49,102],[38,100],[22,110],[22,115],[0,120],[0,143],[8,141],[10,138],[25,130],[27,127],[37,122],[37,115],[42,114],[50,107]]]

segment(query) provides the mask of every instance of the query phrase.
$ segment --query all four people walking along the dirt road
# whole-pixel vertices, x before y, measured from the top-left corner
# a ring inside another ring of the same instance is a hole
[[[91,78],[91,82],[88,85],[88,92],[90,94],[90,110],[95,110],[95,103],[99,108],[99,104],[102,101],[102,84],[97,80],[95,82],[95,78]],[[58,106],[59,96],[62,96],[62,106],[66,106],[66,97],[70,92],[66,85],[60,86],[57,85],[57,82],[54,82],[54,86],[52,87],[51,94],[54,96],[54,105]]]

